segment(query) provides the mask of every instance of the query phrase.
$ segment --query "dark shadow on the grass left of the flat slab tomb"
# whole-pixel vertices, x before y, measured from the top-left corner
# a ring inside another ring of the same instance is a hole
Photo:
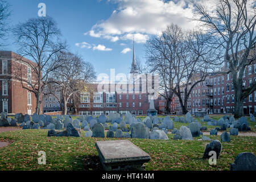
[[[73,171],[104,171],[100,158],[97,155],[71,156],[68,162],[72,163]]]

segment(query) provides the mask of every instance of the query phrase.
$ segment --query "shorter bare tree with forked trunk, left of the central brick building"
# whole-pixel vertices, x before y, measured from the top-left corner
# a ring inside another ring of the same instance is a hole
[[[61,92],[61,100],[57,98],[60,105],[63,104],[63,113],[67,114],[67,103],[69,99],[73,100],[73,107],[77,113],[77,106],[80,102],[80,94],[88,92],[90,90],[90,82],[96,78],[93,65],[89,62],[82,60],[79,55],[75,55],[71,52],[61,53],[60,58],[62,60],[61,67],[55,69],[51,73],[51,78],[54,81],[49,81],[48,92],[53,96],[56,96],[55,89]],[[52,86],[51,86],[52,85]]]

